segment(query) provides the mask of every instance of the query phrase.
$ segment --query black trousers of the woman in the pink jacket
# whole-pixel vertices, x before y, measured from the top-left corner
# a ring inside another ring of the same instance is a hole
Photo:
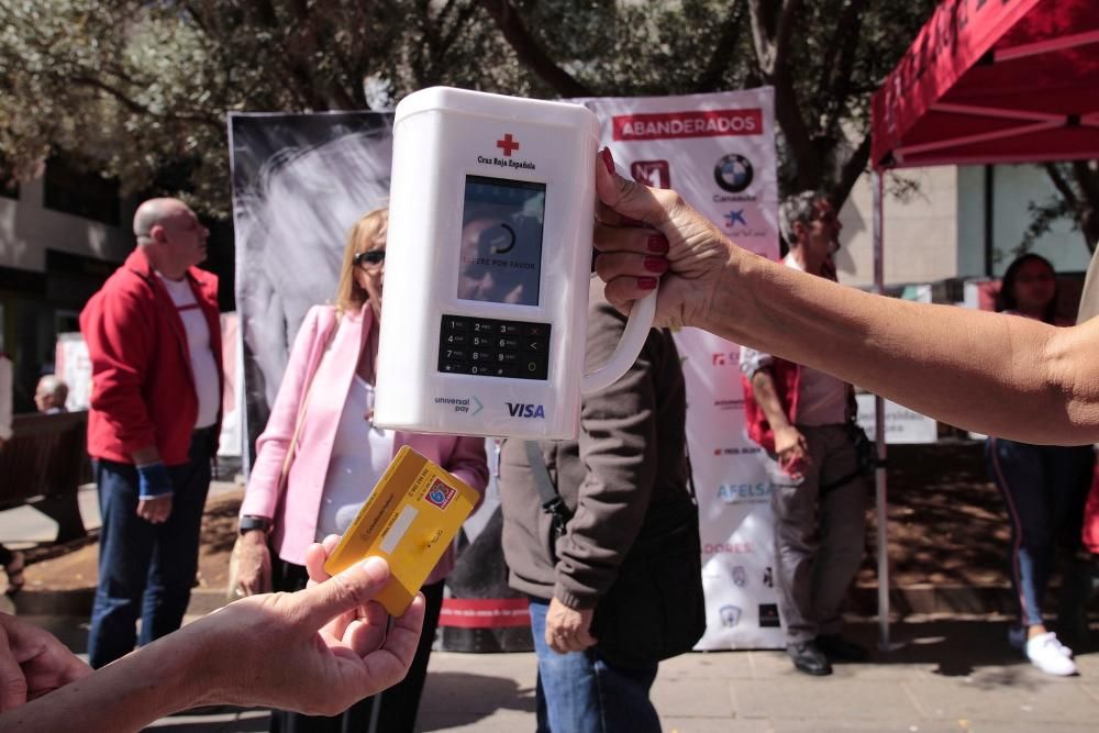
[[[304,567],[279,560],[277,555],[273,557],[276,558],[271,573],[275,590],[292,592],[306,587],[309,575]],[[412,733],[420,709],[420,695],[428,679],[428,660],[439,628],[439,613],[443,608],[444,585],[440,580],[420,589],[428,601],[426,615],[415,657],[404,679],[331,718],[273,710],[271,733]]]

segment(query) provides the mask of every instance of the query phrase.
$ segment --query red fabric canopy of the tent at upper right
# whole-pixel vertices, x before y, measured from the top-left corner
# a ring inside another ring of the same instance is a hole
[[[1099,158],[1099,0],[944,0],[872,114],[876,169]]]

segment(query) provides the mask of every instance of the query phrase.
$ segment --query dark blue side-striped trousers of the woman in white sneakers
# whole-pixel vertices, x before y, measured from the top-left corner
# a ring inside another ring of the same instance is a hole
[[[1091,446],[1030,445],[990,437],[989,473],[1011,519],[1011,582],[1024,625],[1044,623],[1042,599],[1058,546],[1080,543],[1091,487]]]

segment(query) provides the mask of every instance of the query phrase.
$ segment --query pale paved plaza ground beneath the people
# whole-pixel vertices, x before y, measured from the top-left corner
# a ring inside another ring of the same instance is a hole
[[[233,490],[232,484],[215,484],[212,495]],[[97,527],[95,492],[81,492],[80,503],[87,526]],[[34,510],[0,512],[0,536],[13,546],[48,542],[53,533],[53,523]],[[192,610],[204,610],[198,606]],[[75,651],[85,649],[86,617],[25,618],[52,629]],[[830,678],[793,671],[778,652],[690,654],[662,665],[653,699],[665,731],[678,733],[1099,730],[1099,628],[1092,624],[1091,646],[1078,649],[1081,675],[1069,679],[1044,676],[1014,656],[1006,629],[992,614],[909,617],[893,626],[892,638],[902,643],[898,649],[878,653],[868,664],[839,666]],[[876,625],[853,620],[852,633],[873,645]],[[419,730],[533,731],[533,690],[531,654],[437,652]],[[166,718],[151,730],[265,731],[267,722],[262,710],[221,711]]]

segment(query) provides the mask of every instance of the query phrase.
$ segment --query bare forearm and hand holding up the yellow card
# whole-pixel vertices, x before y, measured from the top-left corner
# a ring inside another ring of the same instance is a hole
[[[0,714],[0,730],[52,733],[79,721],[81,731],[120,733],[213,703],[336,714],[400,681],[412,663],[423,598],[386,634],[385,609],[370,599],[388,580],[373,557],[297,593],[236,601]]]

